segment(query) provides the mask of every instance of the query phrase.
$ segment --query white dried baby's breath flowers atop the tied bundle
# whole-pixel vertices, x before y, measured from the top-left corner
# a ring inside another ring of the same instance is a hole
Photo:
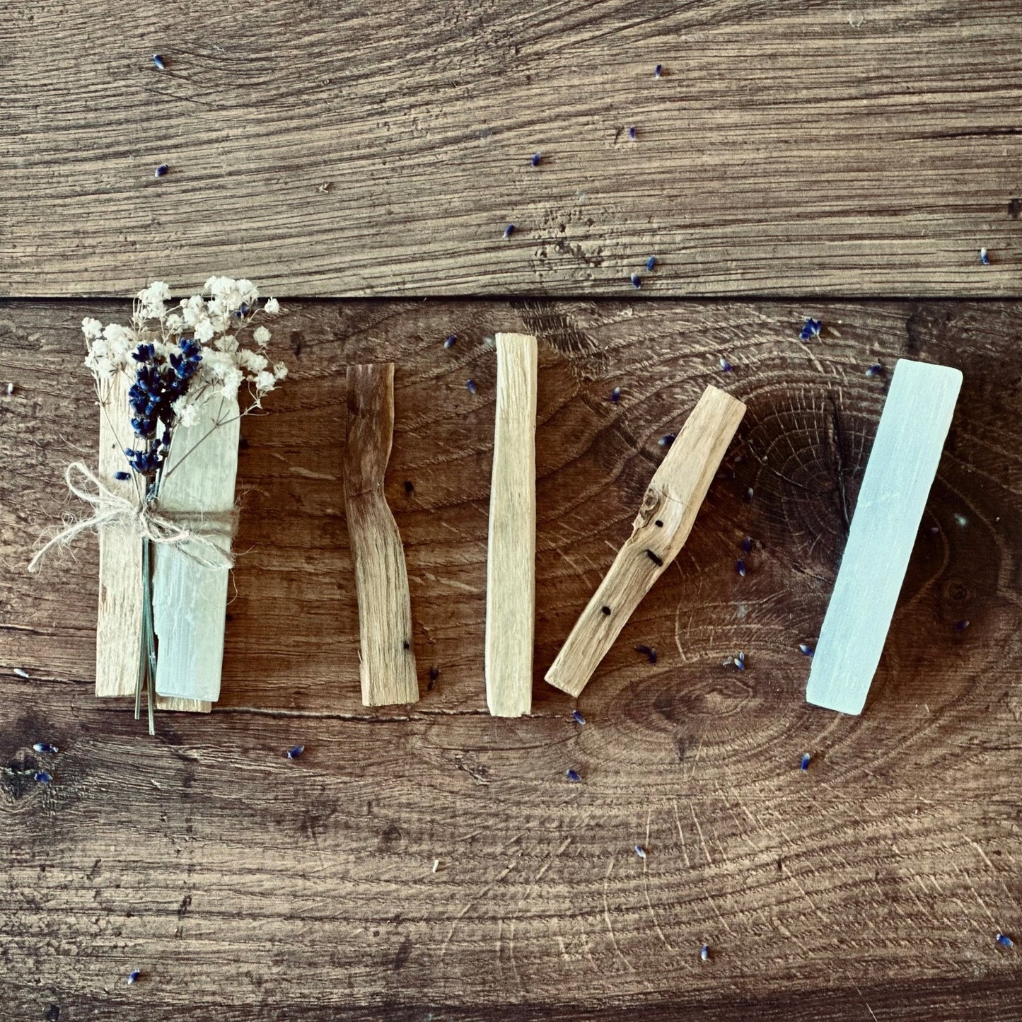
[[[173,403],[177,422],[192,422],[196,403],[211,391],[233,400],[246,387],[249,404],[243,411],[259,408],[264,396],[287,375],[287,366],[272,364],[266,356],[271,334],[265,326],[251,330],[247,346],[242,334],[261,313],[279,314],[277,299],[269,298],[261,306],[259,288],[250,280],[231,277],[211,277],[201,293],[169,309],[170,298],[170,286],[156,280],[139,291],[130,327],[119,323],[104,327],[88,318],[82,321],[88,346],[85,364],[96,379],[110,379],[120,372],[134,376],[137,360],[133,355],[144,344],[152,345],[157,364],[172,367],[190,342],[199,345],[201,358],[195,360],[197,370],[186,392]]]

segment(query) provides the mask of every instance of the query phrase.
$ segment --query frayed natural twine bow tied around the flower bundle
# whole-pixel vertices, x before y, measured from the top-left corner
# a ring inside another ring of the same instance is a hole
[[[64,481],[75,497],[92,506],[92,514],[69,521],[65,519],[65,527],[48,540],[29,561],[30,571],[37,571],[43,557],[54,547],[68,547],[82,532],[96,532],[111,525],[130,529],[150,543],[179,548],[183,544],[191,544],[191,549],[183,549],[182,552],[203,567],[233,567],[234,557],[230,552],[236,524],[233,510],[213,513],[169,511],[160,508],[158,502],[146,498],[140,502],[132,501],[113,493],[83,461],[73,462],[64,469]],[[226,550],[221,545],[224,541]]]

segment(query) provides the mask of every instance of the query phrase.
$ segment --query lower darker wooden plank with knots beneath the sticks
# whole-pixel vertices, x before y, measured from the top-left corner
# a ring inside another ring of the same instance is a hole
[[[5,1022],[1018,1018],[1018,946],[994,934],[1022,930],[1022,308],[296,307],[292,374],[242,427],[222,702],[162,714],[155,740],[92,692],[95,544],[22,570],[63,464],[95,450],[77,324],[122,311],[0,308],[0,754],[54,774],[0,775]],[[803,344],[809,313],[824,336]],[[540,338],[536,687],[513,722],[482,688],[496,330]],[[870,706],[840,718],[805,704],[796,644],[883,403],[864,370],[898,356],[965,384]],[[423,698],[400,712],[361,705],[339,486],[344,368],[370,358],[404,381],[387,498]],[[543,673],[707,382],[748,404],[735,477],[578,726]],[[744,673],[722,666],[739,650]]]

